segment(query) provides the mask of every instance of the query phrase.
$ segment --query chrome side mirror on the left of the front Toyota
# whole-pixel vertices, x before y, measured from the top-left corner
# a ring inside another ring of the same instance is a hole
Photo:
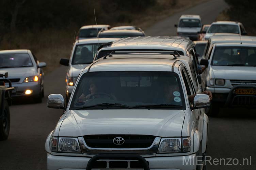
[[[64,106],[65,106],[65,101],[62,95],[53,94],[48,96],[47,107],[63,109]]]

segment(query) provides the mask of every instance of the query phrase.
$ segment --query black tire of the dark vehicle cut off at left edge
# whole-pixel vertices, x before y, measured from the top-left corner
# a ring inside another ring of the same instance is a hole
[[[8,102],[4,100],[3,119],[0,119],[0,140],[6,140],[10,132],[10,109]]]

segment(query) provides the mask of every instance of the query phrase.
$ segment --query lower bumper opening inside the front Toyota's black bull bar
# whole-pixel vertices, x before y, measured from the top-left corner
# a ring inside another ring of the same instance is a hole
[[[107,164],[108,162],[108,164]],[[148,163],[148,161],[147,161]],[[138,160],[98,160],[93,163],[93,169],[143,169],[143,164]]]

